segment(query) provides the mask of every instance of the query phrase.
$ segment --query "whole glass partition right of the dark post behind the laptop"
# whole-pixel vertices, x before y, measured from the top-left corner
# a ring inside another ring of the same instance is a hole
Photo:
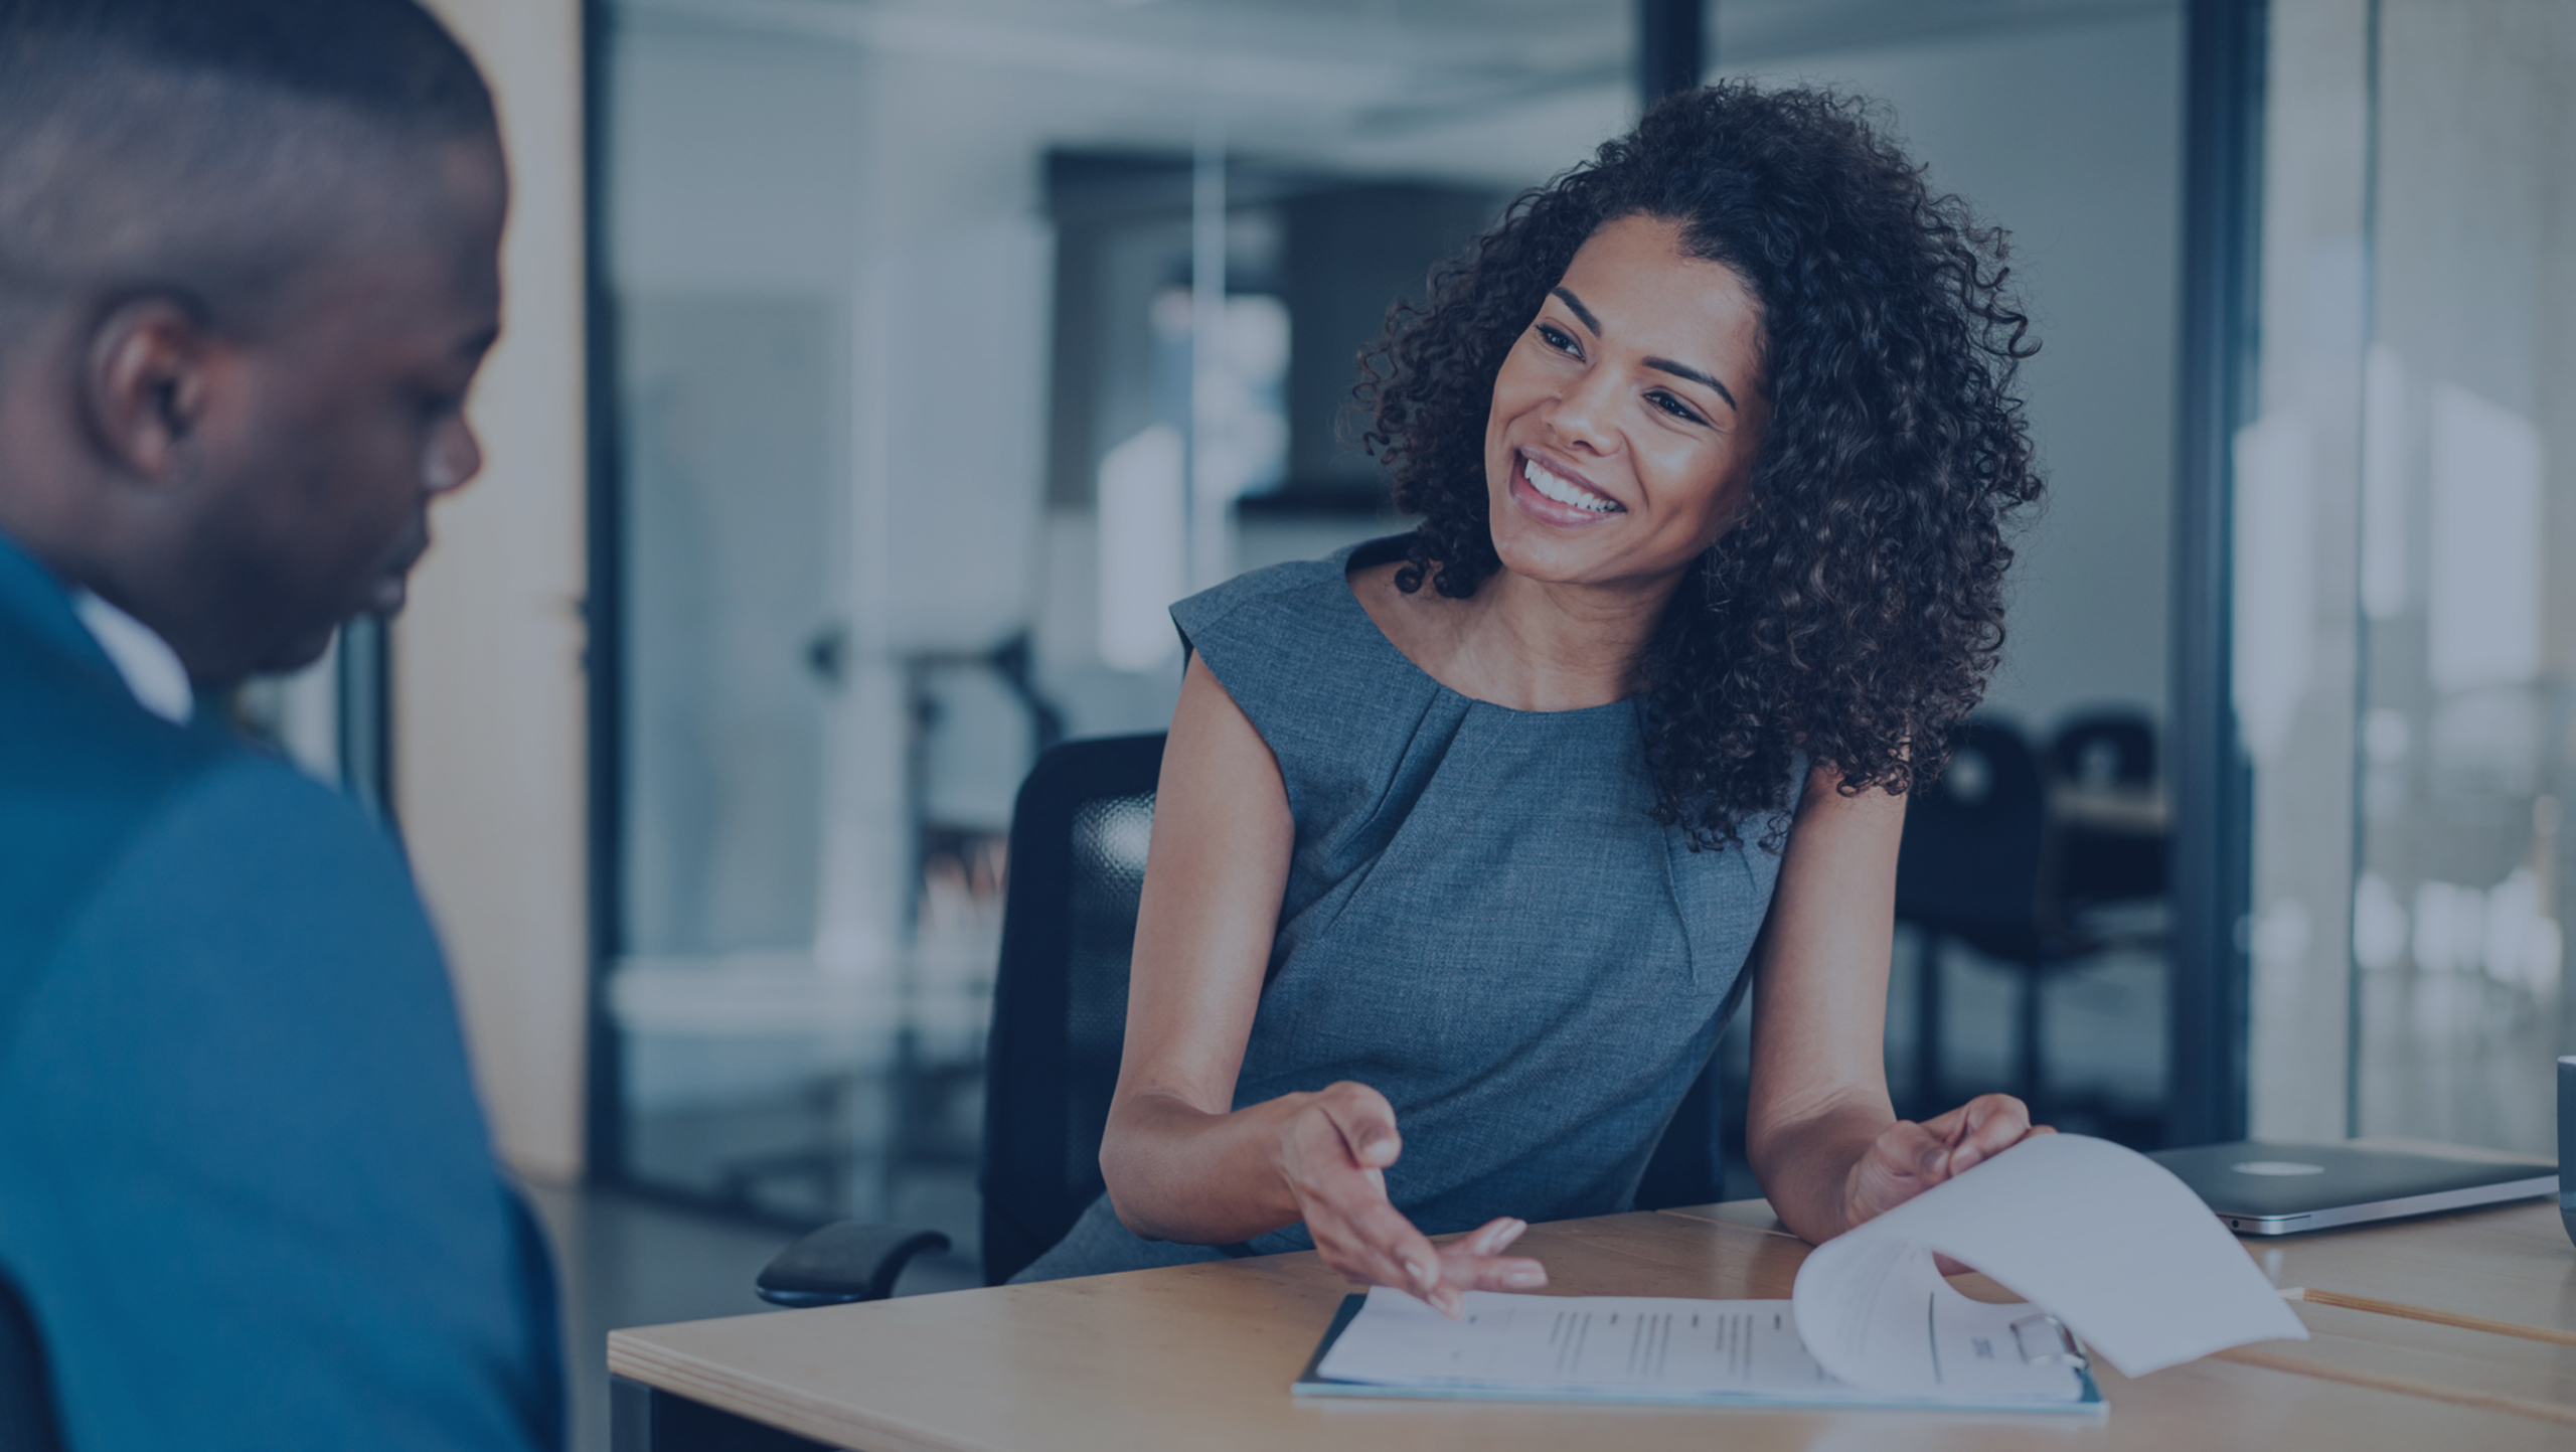
[[[2236,448],[2257,1133],[2553,1153],[2571,77],[2550,0],[2272,5],[2264,396]]]

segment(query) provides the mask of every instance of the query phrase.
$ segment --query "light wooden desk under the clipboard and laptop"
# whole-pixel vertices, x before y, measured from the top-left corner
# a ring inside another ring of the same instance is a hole
[[[2468,1267],[2483,1241],[2458,1236],[2465,1220],[2476,1218],[2365,1233],[2421,1236],[2414,1259],[2424,1264],[2447,1264],[2442,1246],[2458,1243]],[[1785,1298],[1806,1243],[1767,1223],[1759,1202],[1605,1215],[1535,1225],[1522,1246],[1548,1261],[1558,1295]],[[2576,1251],[2563,1236],[2558,1254],[2568,1261],[2558,1267],[2566,1280]],[[1976,1280],[1965,1277],[1971,1292]],[[2403,1290],[2375,1277],[2352,1285]],[[1600,1442],[1633,1452],[2352,1452],[2563,1449],[2576,1439],[2576,1346],[2336,1305],[2303,1305],[2318,1341],[2282,1344],[2290,1352],[2210,1357],[2143,1380],[2097,1367],[2110,1401],[2102,1424],[1669,1406],[1298,1403],[1288,1382],[1342,1295],[1314,1254],[1296,1254],[616,1331],[608,1367],[629,1382],[618,1452],[806,1444],[868,1452],[1515,1452]]]

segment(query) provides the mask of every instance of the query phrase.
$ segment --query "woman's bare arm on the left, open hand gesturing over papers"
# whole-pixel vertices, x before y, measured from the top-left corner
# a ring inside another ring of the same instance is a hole
[[[1278,759],[1193,659],[1162,754],[1126,1058],[1100,1143],[1118,1220],[1200,1246],[1303,1220],[1324,1264],[1443,1310],[1458,1290],[1546,1285],[1538,1261],[1497,1259],[1517,1220],[1432,1249],[1386,1200],[1386,1166],[1404,1140],[1376,1089],[1332,1084],[1231,1110],[1293,842]]]

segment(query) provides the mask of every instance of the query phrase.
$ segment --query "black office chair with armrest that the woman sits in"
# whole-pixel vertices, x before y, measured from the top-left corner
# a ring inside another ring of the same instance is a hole
[[[987,1285],[1054,1249],[1103,1192],[1159,775],[1162,734],[1103,736],[1054,747],[1020,785],[984,1058]],[[1718,1122],[1710,1066],[1664,1130],[1638,1205],[1723,1197]],[[881,1300],[912,1256],[945,1249],[938,1231],[842,1220],[781,1251],[757,1290],[778,1305]]]

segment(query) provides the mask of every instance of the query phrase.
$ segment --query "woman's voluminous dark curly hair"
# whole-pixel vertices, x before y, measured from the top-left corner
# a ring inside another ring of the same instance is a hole
[[[1577,247],[1623,216],[1680,224],[1744,278],[1772,402],[1747,507],[1638,662],[1654,816],[1692,850],[1734,844],[1788,806],[1801,754],[1844,796],[1932,783],[2004,644],[2007,515],[2040,494],[2014,394],[2038,345],[2004,291],[2004,234],[1935,196],[1865,100],[1672,95],[1388,312],[1355,399],[1396,505],[1422,515],[1396,584],[1468,597],[1502,569],[1494,376]]]

